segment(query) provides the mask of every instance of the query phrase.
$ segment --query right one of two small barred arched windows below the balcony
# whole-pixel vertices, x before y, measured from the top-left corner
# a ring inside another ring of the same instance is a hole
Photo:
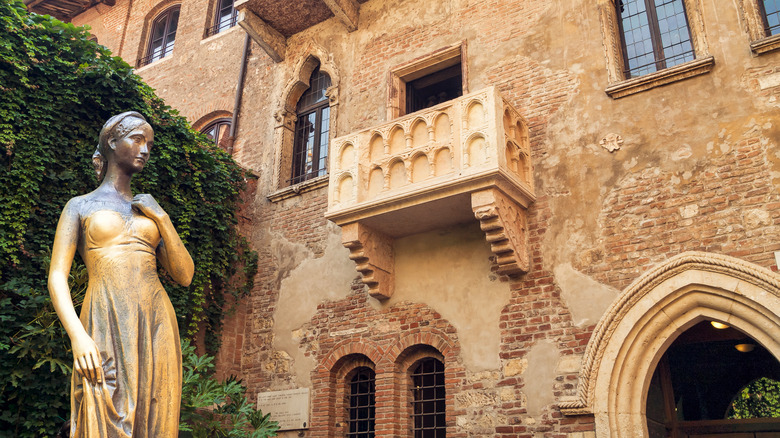
[[[414,438],[443,438],[446,427],[444,364],[426,358],[412,368],[412,431]]]

